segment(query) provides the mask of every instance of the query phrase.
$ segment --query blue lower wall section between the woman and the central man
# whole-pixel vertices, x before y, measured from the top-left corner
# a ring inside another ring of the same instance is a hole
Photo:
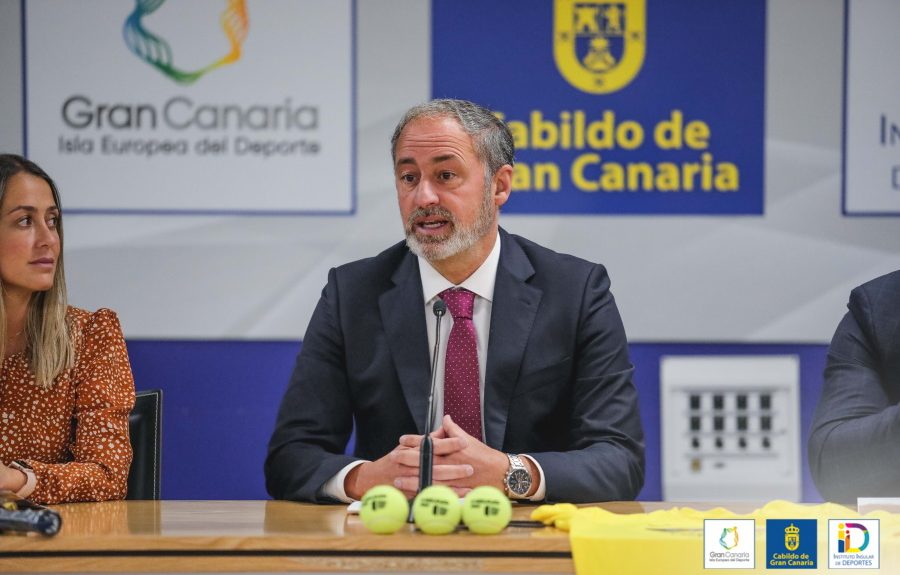
[[[263,461],[297,342],[128,341],[163,390],[163,499],[266,499]]]

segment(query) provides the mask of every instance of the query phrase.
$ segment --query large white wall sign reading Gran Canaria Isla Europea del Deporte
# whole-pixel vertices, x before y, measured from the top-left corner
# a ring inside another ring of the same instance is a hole
[[[26,153],[70,212],[350,214],[353,18],[352,0],[26,0]]]

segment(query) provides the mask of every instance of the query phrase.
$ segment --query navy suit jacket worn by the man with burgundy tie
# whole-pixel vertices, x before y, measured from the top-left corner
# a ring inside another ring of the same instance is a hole
[[[603,266],[500,231],[485,443],[527,453],[547,499],[633,499],[643,432],[625,331]],[[266,460],[277,499],[322,501],[356,459],[423,434],[430,362],[418,258],[404,243],[336,269],[310,320]],[[344,449],[356,424],[354,454]]]

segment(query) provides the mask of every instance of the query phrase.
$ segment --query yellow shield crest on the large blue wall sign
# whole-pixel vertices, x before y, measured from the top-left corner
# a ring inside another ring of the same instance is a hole
[[[645,0],[556,0],[553,56],[560,74],[591,94],[627,86],[644,63]]]

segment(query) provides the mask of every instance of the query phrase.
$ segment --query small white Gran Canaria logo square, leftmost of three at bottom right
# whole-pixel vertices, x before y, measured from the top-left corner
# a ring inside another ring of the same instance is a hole
[[[703,566],[707,569],[753,569],[756,522],[753,519],[705,519]]]

